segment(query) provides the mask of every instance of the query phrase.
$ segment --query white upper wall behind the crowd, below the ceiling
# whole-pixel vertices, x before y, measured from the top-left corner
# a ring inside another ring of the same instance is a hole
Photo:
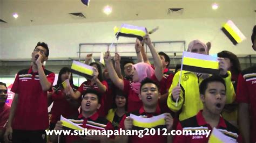
[[[211,41],[211,53],[222,50],[238,55],[254,54],[251,48],[251,32],[255,24],[254,13],[244,18],[233,18],[233,22],[245,34],[247,39],[233,46],[232,42],[220,31],[225,18],[200,19],[163,19],[136,20],[127,22],[99,22],[82,24],[39,25],[0,27],[0,59],[29,59],[38,41],[48,43],[50,59],[77,57],[80,43],[112,42],[113,27],[122,23],[145,26],[148,29],[159,26],[160,29],[151,35],[152,41],[185,40],[186,45],[193,39]],[[120,38],[119,42],[133,42],[134,39]]]

